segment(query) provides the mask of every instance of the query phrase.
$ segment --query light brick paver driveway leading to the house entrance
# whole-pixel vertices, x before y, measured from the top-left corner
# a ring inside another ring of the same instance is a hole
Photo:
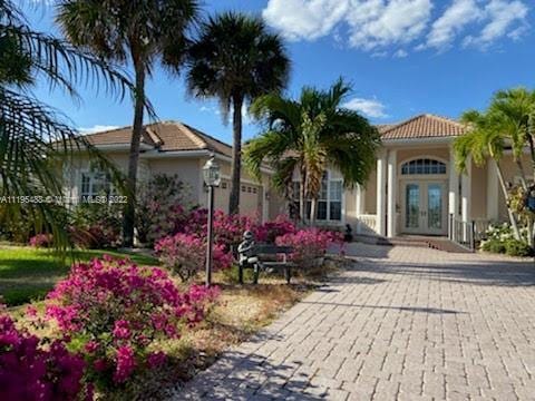
[[[352,244],[358,263],[177,399],[535,400],[535,266]]]

